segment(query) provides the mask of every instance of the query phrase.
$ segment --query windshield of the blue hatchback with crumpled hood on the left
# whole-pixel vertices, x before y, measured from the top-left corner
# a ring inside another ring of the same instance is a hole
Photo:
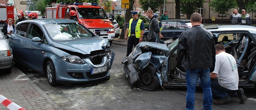
[[[56,41],[93,37],[89,30],[79,23],[45,24],[46,31]]]

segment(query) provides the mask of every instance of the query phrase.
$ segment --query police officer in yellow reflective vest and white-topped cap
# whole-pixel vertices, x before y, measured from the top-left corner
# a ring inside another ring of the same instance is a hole
[[[127,40],[129,37],[126,57],[132,52],[132,46],[135,47],[139,42],[142,42],[142,36],[145,29],[143,21],[138,18],[138,11],[131,12],[133,19],[130,19],[125,32],[125,39]]]

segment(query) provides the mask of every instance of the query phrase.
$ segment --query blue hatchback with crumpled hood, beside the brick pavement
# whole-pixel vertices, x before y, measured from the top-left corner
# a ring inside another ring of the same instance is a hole
[[[13,65],[22,64],[47,75],[51,86],[111,76],[114,52],[108,40],[67,19],[19,22],[10,35]]]

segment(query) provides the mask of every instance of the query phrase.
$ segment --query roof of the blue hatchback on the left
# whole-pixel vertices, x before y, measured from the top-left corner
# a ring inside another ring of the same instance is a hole
[[[25,20],[21,21],[22,22],[34,22],[38,24],[56,24],[56,23],[76,23],[76,21],[69,20],[69,19],[35,19],[35,20]]]

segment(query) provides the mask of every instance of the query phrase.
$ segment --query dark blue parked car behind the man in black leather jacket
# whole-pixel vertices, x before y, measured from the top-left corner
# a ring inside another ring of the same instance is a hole
[[[168,40],[170,38],[172,39],[177,39],[180,34],[187,30],[190,29],[192,27],[192,24],[190,22],[190,20],[184,20],[184,19],[180,19],[180,20],[164,20],[161,21],[162,23],[162,30],[161,30],[161,35],[163,35],[164,37],[161,40]],[[180,25],[180,26],[177,26]],[[204,26],[203,24],[201,24],[201,26]],[[148,41],[148,30],[144,31],[143,34],[143,41]]]

